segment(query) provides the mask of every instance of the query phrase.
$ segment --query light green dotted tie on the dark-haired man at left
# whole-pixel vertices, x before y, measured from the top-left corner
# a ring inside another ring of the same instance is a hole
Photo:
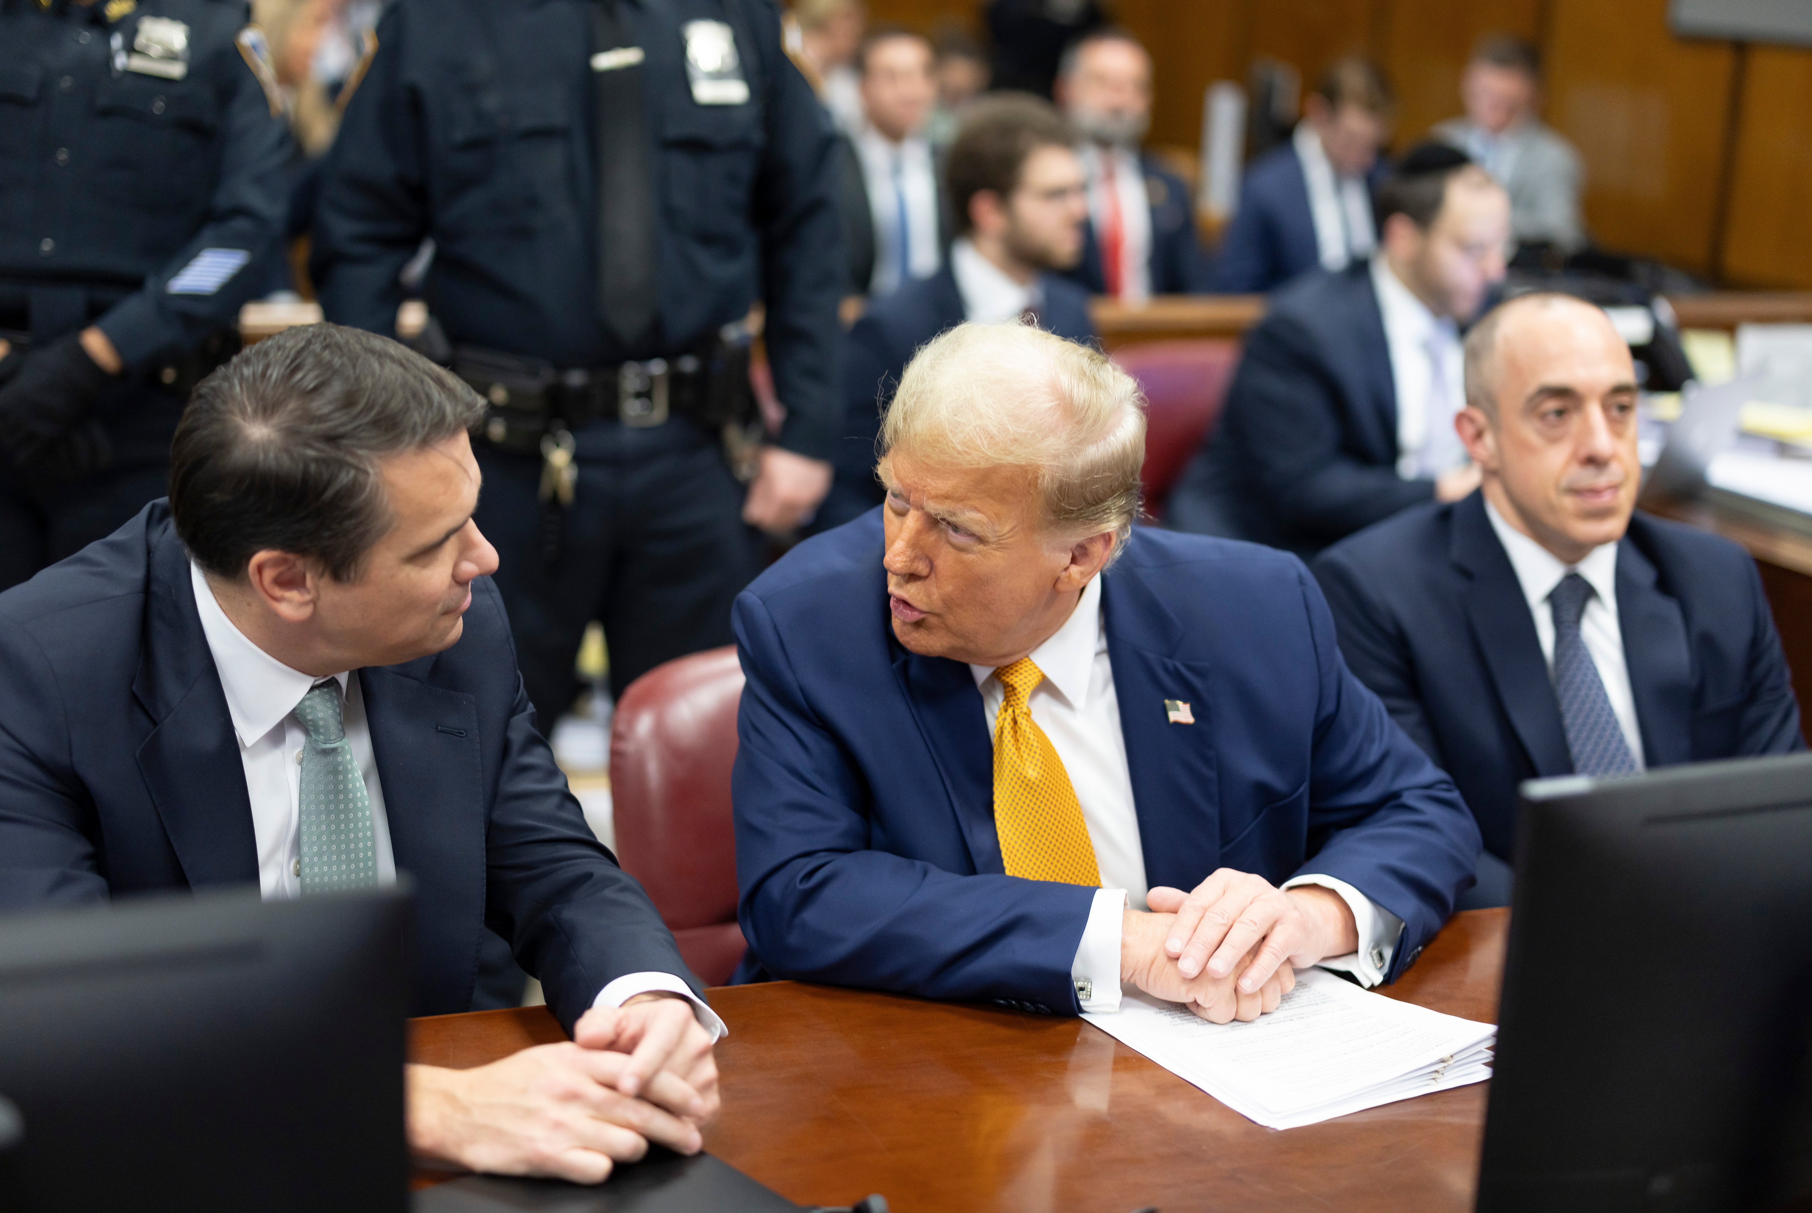
[[[364,776],[346,742],[337,682],[324,682],[295,707],[308,729],[303,745],[303,894],[377,885],[377,845]]]

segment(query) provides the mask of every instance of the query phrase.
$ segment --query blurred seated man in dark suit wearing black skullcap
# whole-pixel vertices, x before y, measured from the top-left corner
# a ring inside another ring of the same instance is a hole
[[[1464,152],[1424,143],[1379,212],[1381,256],[1279,290],[1247,337],[1169,526],[1312,553],[1479,482],[1453,433],[1459,326],[1504,277],[1509,203]]]

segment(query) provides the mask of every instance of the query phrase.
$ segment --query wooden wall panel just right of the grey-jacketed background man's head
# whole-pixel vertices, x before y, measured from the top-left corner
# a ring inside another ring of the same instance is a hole
[[[1734,53],[1667,29],[1667,0],[1555,0],[1547,120],[1586,160],[1604,245],[1712,268]]]

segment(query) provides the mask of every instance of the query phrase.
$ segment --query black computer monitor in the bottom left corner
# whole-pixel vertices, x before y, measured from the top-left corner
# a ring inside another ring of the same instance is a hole
[[[408,896],[0,917],[0,1209],[402,1213]]]

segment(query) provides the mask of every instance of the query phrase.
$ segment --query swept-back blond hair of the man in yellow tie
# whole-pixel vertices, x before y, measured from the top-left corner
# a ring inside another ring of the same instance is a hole
[[[1140,511],[1145,397],[1089,346],[1024,323],[959,325],[906,366],[881,448],[940,468],[1033,470],[1051,531],[1113,531],[1118,555]]]

